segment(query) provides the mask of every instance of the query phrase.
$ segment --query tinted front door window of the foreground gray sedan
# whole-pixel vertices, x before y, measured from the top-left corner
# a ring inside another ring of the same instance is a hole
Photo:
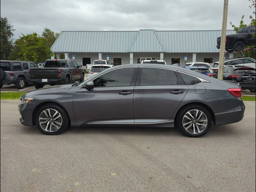
[[[115,87],[130,86],[134,68],[124,68],[110,71],[98,78],[94,82],[94,87]]]

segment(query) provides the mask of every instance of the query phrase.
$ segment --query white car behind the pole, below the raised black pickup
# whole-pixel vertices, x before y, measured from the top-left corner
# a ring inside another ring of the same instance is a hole
[[[242,64],[246,64],[246,65],[251,65],[254,64],[255,65],[255,59],[253,58],[248,58],[248,57],[243,57],[243,58],[230,58],[230,59],[225,59],[224,60],[224,65],[242,65]],[[214,62],[213,66],[209,68],[210,71],[216,71],[218,70],[218,66],[219,66],[219,62]]]

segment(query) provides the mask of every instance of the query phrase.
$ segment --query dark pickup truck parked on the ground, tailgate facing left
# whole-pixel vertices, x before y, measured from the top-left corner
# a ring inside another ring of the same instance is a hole
[[[35,88],[44,85],[68,84],[74,81],[84,81],[84,70],[74,60],[48,59],[44,67],[30,68],[30,82]]]

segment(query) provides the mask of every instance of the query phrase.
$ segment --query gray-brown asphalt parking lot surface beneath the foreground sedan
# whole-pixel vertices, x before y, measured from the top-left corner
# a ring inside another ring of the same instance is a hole
[[[242,121],[201,138],[124,127],[47,136],[20,124],[19,102],[1,100],[3,192],[255,191],[255,102],[244,102]]]

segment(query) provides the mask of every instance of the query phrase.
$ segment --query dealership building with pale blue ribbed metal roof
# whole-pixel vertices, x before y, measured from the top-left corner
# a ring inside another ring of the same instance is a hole
[[[235,33],[227,30],[226,34]],[[216,39],[220,35],[221,30],[62,31],[51,50],[57,58],[63,53],[65,59],[84,67],[98,59],[114,65],[142,60],[165,60],[168,65],[213,63],[219,60]]]

